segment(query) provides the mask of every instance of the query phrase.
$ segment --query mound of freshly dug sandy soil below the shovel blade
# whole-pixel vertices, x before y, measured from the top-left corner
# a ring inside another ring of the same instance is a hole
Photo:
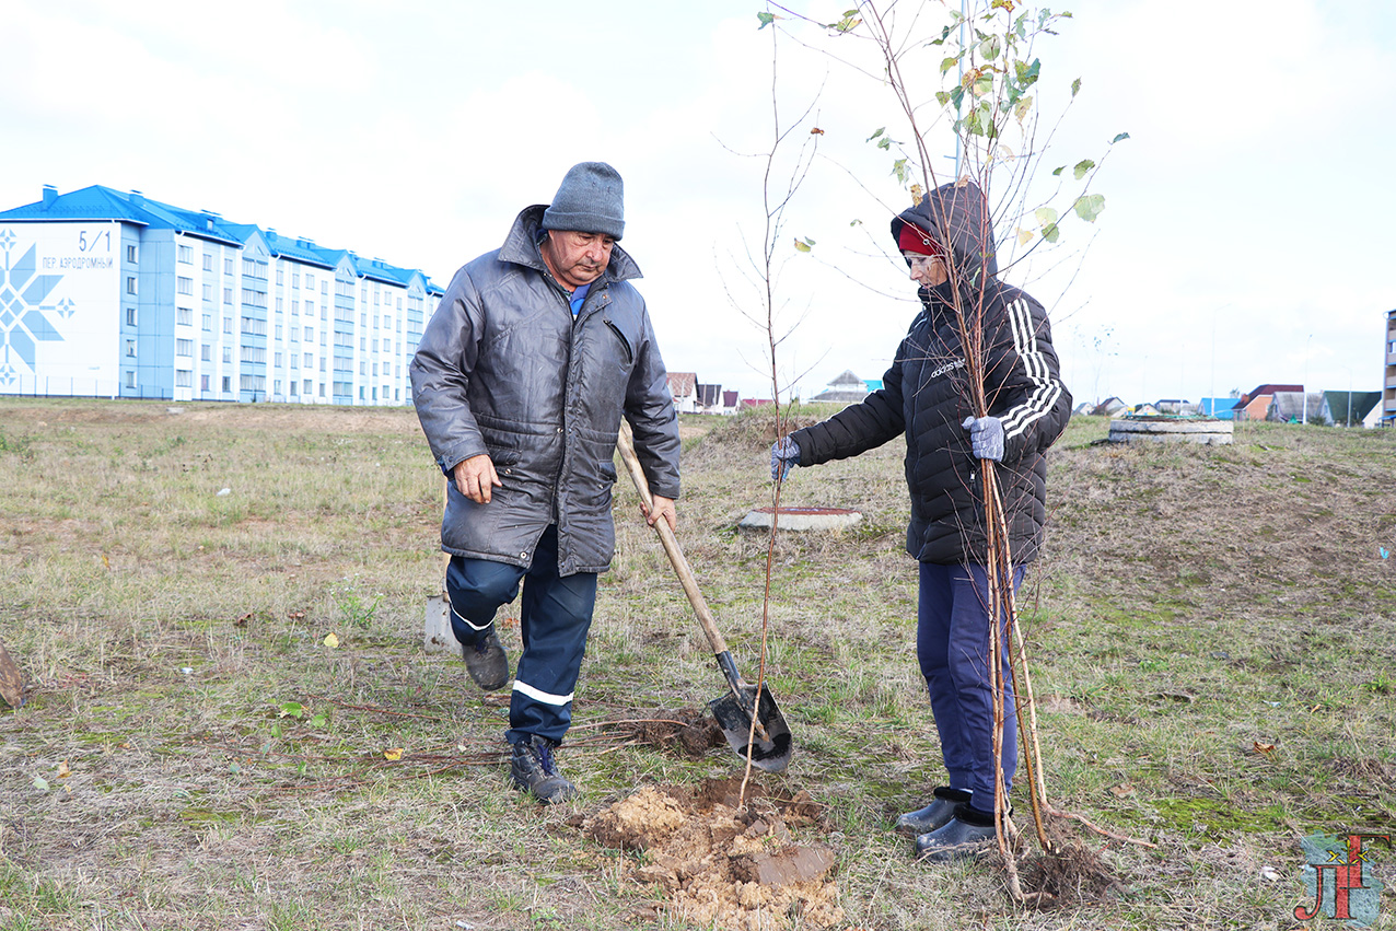
[[[697,791],[645,786],[581,828],[597,843],[644,851],[625,860],[627,877],[662,888],[662,907],[678,920],[733,931],[840,923],[833,851],[790,831],[822,833],[821,807],[805,791],[769,793],[752,780],[738,810],[740,789],[740,775]]]

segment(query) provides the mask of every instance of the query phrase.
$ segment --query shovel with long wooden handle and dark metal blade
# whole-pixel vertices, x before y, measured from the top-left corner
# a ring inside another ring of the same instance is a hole
[[[620,458],[625,462],[625,470],[635,480],[635,490],[639,491],[645,507],[653,508],[649,482],[645,479],[645,472],[639,468],[639,459],[635,458],[635,447],[630,440],[630,424],[621,424],[616,447],[620,449]],[[757,687],[743,681],[741,676],[737,674],[737,664],[732,659],[732,652],[722,639],[722,634],[718,632],[718,627],[712,620],[712,611],[708,610],[708,603],[704,600],[702,592],[698,590],[698,579],[694,578],[692,569],[688,568],[688,560],[684,558],[683,550],[678,549],[678,540],[674,539],[674,532],[669,528],[669,522],[663,519],[655,521],[655,530],[659,533],[659,542],[664,544],[664,553],[669,554],[669,561],[678,575],[678,582],[683,585],[688,602],[694,606],[694,614],[698,616],[698,623],[702,624],[704,634],[708,635],[718,667],[727,677],[730,691],[722,698],[708,702],[712,716],[718,720],[718,727],[722,729],[727,744],[732,745],[737,755],[750,759],[751,765],[757,769],[766,772],[783,770],[790,764],[790,726],[785,723],[780,709],[776,708],[776,699],[771,697],[771,690],[764,685],[758,697]],[[755,729],[751,726],[752,717],[755,717]],[[748,737],[751,740],[750,752]]]

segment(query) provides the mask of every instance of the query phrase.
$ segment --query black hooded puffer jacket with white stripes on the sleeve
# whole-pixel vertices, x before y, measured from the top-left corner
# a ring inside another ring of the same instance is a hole
[[[879,391],[792,434],[800,447],[800,465],[854,456],[905,433],[912,494],[907,553],[940,564],[986,560],[983,476],[969,433],[960,426],[976,412],[956,325],[958,290],[969,325],[977,322],[983,334],[988,413],[1004,423],[1004,459],[995,469],[1012,558],[1015,564],[1030,563],[1047,519],[1043,454],[1071,416],[1071,394],[1058,375],[1047,314],[1029,295],[995,278],[987,205],[973,184],[937,188],[893,219],[893,241],[903,223],[949,244],[952,278],[921,289],[923,310],[882,375]]]

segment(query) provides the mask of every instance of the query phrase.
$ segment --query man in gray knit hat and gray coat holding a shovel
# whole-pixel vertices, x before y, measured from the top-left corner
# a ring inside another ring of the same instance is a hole
[[[508,683],[494,614],[522,583],[510,699],[515,787],[567,801],[553,757],[616,549],[613,455],[621,417],[653,493],[651,525],[676,526],[678,424],[655,331],[630,279],[620,174],[582,162],[504,246],[455,274],[412,360],[412,398],[447,476],[441,549],[451,627],[470,678]]]

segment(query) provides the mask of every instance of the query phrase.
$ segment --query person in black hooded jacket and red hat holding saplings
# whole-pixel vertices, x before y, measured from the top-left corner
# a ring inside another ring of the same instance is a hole
[[[892,239],[921,286],[923,310],[882,388],[772,448],[772,476],[845,459],[906,435],[912,521],[906,550],[920,565],[917,657],[931,698],[948,786],[902,815],[917,856],[955,860],[994,836],[984,486],[994,459],[1008,518],[1013,585],[1037,557],[1047,518],[1046,449],[1071,416],[1041,304],[997,279],[983,193],[945,184],[892,221]],[[962,329],[960,321],[965,321]],[[962,332],[977,334],[966,366]],[[983,373],[981,385],[969,381]],[[987,416],[976,416],[983,392]],[[1004,666],[1004,784],[1018,765],[1016,717]]]

